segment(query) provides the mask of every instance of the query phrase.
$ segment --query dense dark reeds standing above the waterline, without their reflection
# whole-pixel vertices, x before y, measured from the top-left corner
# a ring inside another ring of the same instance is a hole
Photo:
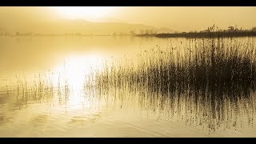
[[[256,80],[255,46],[225,38],[193,39],[179,48],[151,49],[108,62],[100,86],[143,85],[161,91],[247,85]]]

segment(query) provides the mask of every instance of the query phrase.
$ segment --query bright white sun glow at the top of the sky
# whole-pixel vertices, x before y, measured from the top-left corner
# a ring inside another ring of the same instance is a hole
[[[62,17],[87,20],[102,18],[114,10],[111,6],[57,6],[54,9]]]

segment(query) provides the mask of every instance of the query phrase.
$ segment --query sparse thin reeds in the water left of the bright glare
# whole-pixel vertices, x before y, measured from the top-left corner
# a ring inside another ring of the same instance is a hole
[[[70,87],[62,82],[61,74],[54,76],[50,72],[35,74],[34,78],[26,78],[26,75],[17,74],[14,82],[6,86],[8,95],[16,98],[16,105],[27,106],[33,102],[53,102],[54,97],[58,97],[59,103],[65,103],[68,100]],[[58,80],[56,81],[56,78]]]

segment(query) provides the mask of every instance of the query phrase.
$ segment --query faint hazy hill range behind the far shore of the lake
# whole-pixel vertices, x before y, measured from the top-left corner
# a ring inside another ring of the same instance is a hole
[[[1,25],[0,25],[1,26]],[[133,30],[136,34],[143,30],[153,30],[157,33],[172,32],[167,28],[156,28],[141,24],[129,24],[123,22],[89,22],[85,20],[54,20],[51,22],[26,22],[19,25],[1,26],[2,30],[10,33],[41,33],[41,34],[129,34]],[[4,28],[3,28],[4,27]]]

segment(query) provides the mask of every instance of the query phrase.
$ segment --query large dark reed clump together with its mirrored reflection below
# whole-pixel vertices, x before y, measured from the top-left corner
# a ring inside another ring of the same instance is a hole
[[[138,91],[146,107],[178,113],[188,123],[210,130],[222,124],[238,126],[238,115],[245,112],[251,124],[254,110],[248,106],[254,107],[255,50],[253,38],[189,39],[178,47],[157,47],[134,59],[106,62],[96,72],[96,86],[99,94],[112,96],[116,90]]]

